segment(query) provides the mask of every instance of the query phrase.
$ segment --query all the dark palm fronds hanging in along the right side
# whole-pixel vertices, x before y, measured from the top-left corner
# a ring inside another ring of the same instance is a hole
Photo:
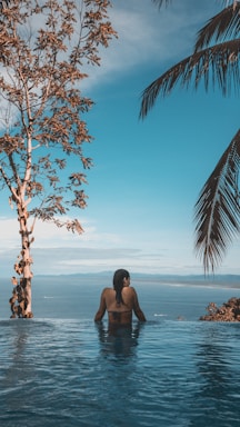
[[[161,6],[163,1],[156,0]],[[140,117],[143,119],[154,106],[158,96],[166,97],[180,85],[196,89],[200,83],[218,87],[223,96],[239,92],[240,72],[240,2],[226,6],[198,32],[197,41],[184,58],[142,93]],[[239,209],[240,131],[238,130],[216,169],[204,183],[196,203],[196,250],[206,271],[214,270],[227,247],[240,231]]]

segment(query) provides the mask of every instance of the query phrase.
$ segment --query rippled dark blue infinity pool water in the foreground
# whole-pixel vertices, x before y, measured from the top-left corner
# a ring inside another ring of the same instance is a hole
[[[0,423],[237,427],[239,325],[0,321]]]

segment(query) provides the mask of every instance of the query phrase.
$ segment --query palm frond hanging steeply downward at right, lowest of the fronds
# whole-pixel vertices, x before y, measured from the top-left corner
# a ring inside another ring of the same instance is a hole
[[[238,175],[240,130],[204,183],[194,206],[196,251],[208,272],[222,260],[229,242],[240,231]]]

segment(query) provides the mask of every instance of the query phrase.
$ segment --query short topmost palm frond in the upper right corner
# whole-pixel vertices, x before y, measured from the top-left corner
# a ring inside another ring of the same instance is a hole
[[[211,18],[198,32],[194,51],[202,50],[213,40],[236,39],[240,30],[240,2],[229,6]]]

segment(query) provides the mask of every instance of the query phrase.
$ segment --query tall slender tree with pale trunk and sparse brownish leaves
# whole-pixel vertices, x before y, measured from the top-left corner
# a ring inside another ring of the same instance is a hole
[[[32,317],[36,219],[82,232],[72,208],[84,208],[84,121],[91,99],[80,91],[86,67],[99,66],[99,48],[116,36],[108,0],[2,2],[0,14],[0,183],[17,211],[21,250],[14,265],[12,317]],[[71,165],[74,161],[76,170]],[[62,170],[64,170],[62,173]],[[62,217],[62,220],[60,220]]]

